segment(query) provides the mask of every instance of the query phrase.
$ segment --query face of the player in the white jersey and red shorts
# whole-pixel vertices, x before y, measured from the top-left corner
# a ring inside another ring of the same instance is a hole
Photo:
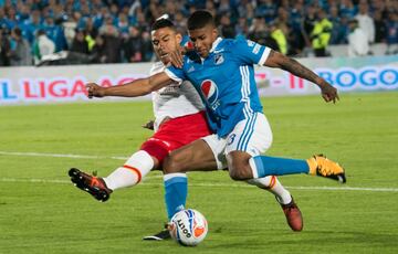
[[[176,51],[182,36],[170,28],[163,28],[151,32],[154,51],[164,64],[170,62],[169,53]]]

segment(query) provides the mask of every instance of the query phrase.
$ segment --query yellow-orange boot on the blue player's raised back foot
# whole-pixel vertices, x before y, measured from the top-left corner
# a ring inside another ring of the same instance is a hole
[[[307,159],[307,163],[310,166],[308,173],[312,176],[329,178],[341,183],[346,182],[344,168],[337,162],[327,159],[323,155],[313,156],[312,158]]]

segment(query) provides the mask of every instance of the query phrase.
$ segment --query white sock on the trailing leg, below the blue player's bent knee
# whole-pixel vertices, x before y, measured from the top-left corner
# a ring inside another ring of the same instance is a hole
[[[270,191],[276,197],[281,204],[287,204],[292,201],[291,193],[282,186],[275,176],[250,179],[247,182]]]

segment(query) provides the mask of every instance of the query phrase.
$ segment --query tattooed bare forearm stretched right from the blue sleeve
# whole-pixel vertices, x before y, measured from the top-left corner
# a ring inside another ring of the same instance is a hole
[[[313,71],[305,67],[294,59],[287,57],[284,54],[271,50],[264,63],[264,66],[282,68],[292,73],[295,76],[305,78],[316,84],[317,86],[320,86],[322,97],[325,99],[325,102],[336,103],[336,99],[338,99],[337,89],[335,87],[333,87],[324,78],[320,77]]]

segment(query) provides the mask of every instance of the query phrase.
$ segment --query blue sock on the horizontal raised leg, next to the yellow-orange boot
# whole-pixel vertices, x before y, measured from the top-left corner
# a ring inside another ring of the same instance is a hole
[[[306,160],[277,158],[269,156],[254,156],[250,159],[253,178],[266,176],[283,176],[294,173],[308,173],[310,166]],[[255,176],[255,172],[258,176]]]

